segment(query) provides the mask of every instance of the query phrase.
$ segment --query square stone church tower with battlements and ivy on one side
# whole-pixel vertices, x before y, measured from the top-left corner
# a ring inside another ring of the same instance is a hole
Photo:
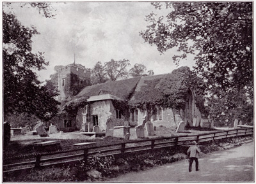
[[[82,88],[90,85],[91,72],[80,64],[68,64],[58,69],[58,101],[75,96]]]

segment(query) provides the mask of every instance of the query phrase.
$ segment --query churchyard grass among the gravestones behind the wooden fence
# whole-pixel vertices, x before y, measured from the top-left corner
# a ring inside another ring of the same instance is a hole
[[[157,138],[157,137],[170,137],[170,136],[186,136],[190,134],[202,134],[209,131],[200,131],[200,129],[189,129],[185,132],[176,133],[175,127],[156,127],[155,136],[150,136],[150,138]],[[135,129],[131,129],[131,137],[130,139],[136,139],[135,136]],[[147,138],[145,138],[147,139]],[[44,150],[36,150],[34,149],[34,143],[39,143],[43,141],[60,141],[60,147],[62,150],[76,148],[74,146],[75,143],[84,143],[84,142],[100,142],[100,143],[119,143],[123,139],[122,138],[93,138],[89,136],[84,136],[80,134],[79,131],[76,132],[65,132],[64,134],[56,133],[56,134],[49,134],[49,137],[40,138],[40,136],[24,136],[24,135],[17,135],[12,136],[10,145],[7,149],[4,150],[4,157],[13,157],[18,155],[26,155],[31,153],[38,153],[44,152]]]

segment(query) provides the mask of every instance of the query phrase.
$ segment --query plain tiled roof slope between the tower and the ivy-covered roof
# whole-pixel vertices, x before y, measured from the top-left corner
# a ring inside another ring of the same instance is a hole
[[[99,96],[99,94],[111,94],[122,100],[128,100],[132,92],[136,88],[137,83],[141,77],[134,77],[125,80],[108,81],[106,83],[99,83],[83,88],[76,97],[82,96]]]

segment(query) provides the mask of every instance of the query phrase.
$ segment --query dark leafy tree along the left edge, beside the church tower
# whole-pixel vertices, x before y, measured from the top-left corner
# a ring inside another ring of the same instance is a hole
[[[4,118],[13,113],[36,115],[49,120],[57,113],[57,95],[42,86],[33,70],[45,69],[42,52],[32,52],[36,28],[25,27],[12,13],[3,11],[3,87]]]

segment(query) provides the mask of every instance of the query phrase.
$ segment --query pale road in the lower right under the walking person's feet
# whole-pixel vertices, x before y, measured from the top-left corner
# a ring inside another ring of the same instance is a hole
[[[181,160],[164,166],[153,167],[147,171],[129,173],[113,178],[111,181],[253,181],[254,143],[209,153],[199,159],[200,171],[188,171],[188,160]]]

